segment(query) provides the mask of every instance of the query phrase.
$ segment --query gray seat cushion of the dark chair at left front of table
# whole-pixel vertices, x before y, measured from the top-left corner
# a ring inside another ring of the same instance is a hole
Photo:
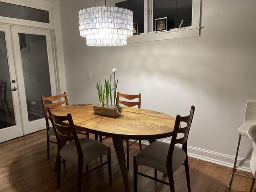
[[[82,147],[83,156],[84,156],[84,166],[87,165],[92,160],[98,158],[99,156],[104,156],[109,154],[108,146],[102,144],[98,141],[83,138],[79,139],[79,142]],[[60,156],[69,161],[70,163],[77,165],[77,150],[74,142],[66,144],[60,150]]]

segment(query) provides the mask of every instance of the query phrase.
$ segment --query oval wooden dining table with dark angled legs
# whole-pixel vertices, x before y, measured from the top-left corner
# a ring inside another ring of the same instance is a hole
[[[123,140],[141,139],[151,143],[170,137],[175,124],[175,118],[169,115],[139,108],[123,107],[119,118],[95,115],[91,104],[61,106],[53,108],[52,112],[59,116],[71,113],[77,129],[112,138],[126,192],[130,190]]]

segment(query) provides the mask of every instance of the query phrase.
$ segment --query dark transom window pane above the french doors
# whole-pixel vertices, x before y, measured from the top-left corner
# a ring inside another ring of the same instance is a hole
[[[0,2],[0,16],[50,23],[48,11],[5,2]]]

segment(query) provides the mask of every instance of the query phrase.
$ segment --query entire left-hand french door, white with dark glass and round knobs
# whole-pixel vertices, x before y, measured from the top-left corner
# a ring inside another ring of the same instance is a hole
[[[23,135],[10,26],[0,25],[0,142]]]

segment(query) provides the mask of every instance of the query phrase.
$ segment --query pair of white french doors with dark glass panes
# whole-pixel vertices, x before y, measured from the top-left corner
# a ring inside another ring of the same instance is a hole
[[[0,25],[0,142],[46,128],[41,96],[57,95],[52,45],[50,30]]]

